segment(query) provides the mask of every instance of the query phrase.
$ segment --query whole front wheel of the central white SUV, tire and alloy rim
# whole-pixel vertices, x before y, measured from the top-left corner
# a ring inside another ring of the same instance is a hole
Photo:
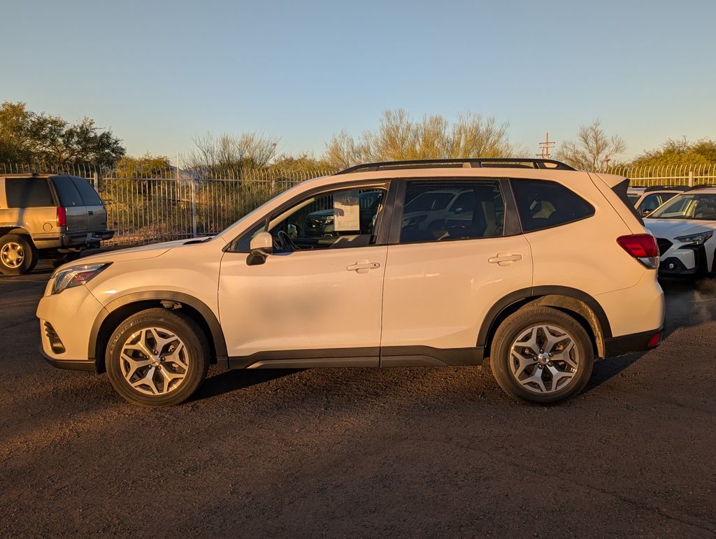
[[[148,309],[130,316],[110,337],[107,376],[122,398],[147,407],[179,404],[206,377],[209,349],[185,314]]]

